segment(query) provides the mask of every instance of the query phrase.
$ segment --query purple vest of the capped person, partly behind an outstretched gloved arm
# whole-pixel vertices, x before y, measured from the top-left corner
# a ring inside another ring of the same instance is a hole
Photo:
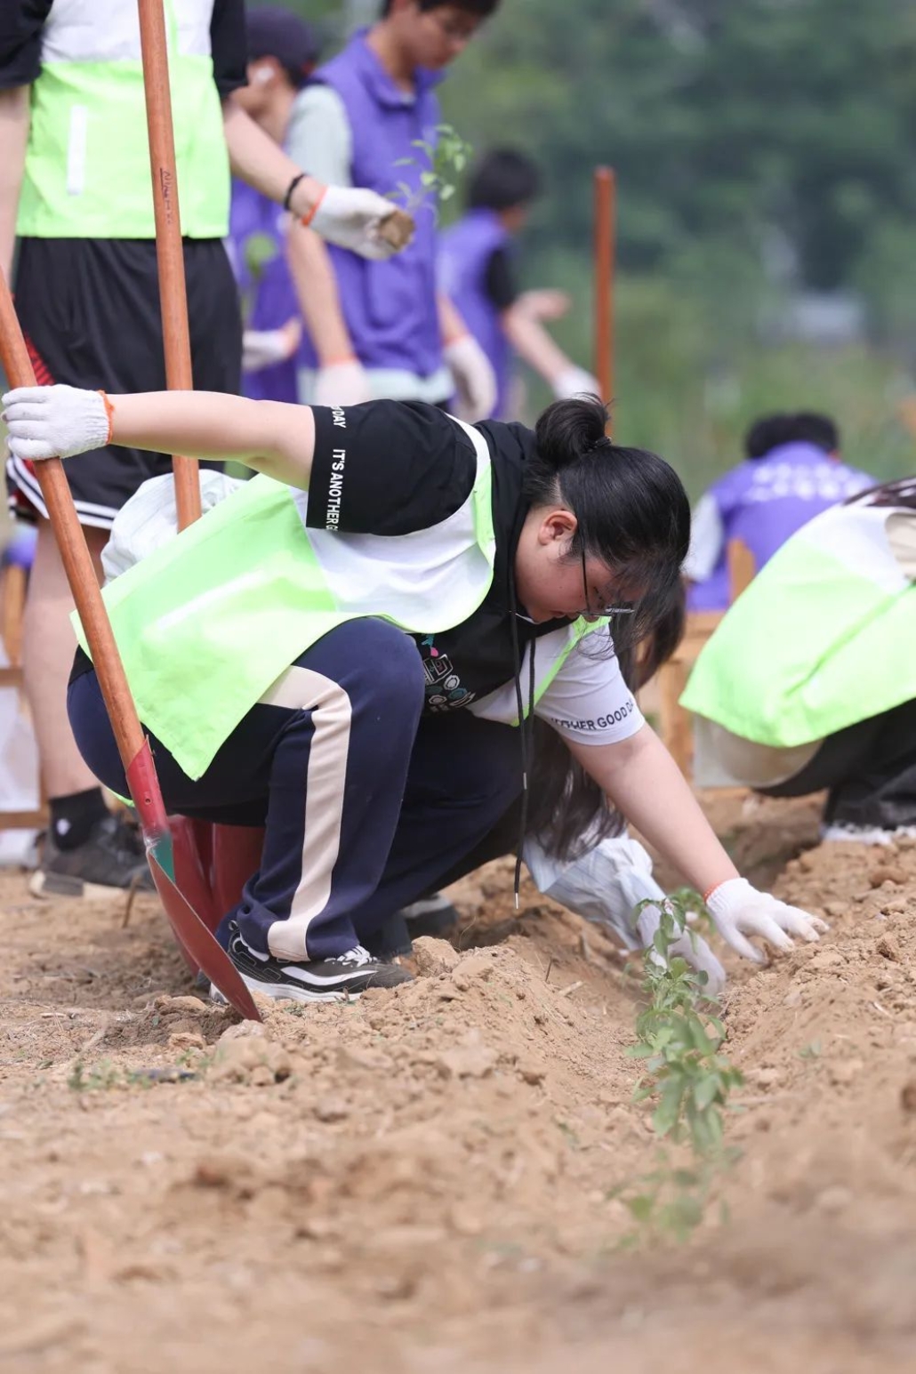
[[[280,231],[283,210],[244,181],[232,183],[229,257],[251,330],[279,330],[299,313]],[[271,254],[272,250],[272,254]],[[297,357],[244,372],[242,390],[255,401],[295,401]]]

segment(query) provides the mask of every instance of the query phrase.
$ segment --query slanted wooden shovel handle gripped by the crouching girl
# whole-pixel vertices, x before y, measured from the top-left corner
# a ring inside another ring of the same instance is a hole
[[[3,272],[0,272],[0,360],[11,386],[36,385],[32,359]],[[126,769],[143,749],[143,731],[124,675],[121,654],[111,633],[111,624],[102,600],[85,534],[77,519],[70,484],[65,477],[59,458],[36,463],[34,470],[60,550],[70,591],[87,633],[92,662],[118,742],[121,763]]]

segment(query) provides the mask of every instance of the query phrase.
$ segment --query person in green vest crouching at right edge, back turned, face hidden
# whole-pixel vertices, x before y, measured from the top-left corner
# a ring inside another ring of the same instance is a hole
[[[916,835],[916,478],[835,506],[735,602],[681,698],[695,774],[827,789],[824,840]]]

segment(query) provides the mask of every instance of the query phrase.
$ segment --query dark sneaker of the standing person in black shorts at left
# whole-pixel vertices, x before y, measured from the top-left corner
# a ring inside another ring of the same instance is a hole
[[[33,897],[84,897],[106,901],[130,889],[152,892],[143,840],[129,820],[104,816],[77,849],[59,849],[48,831],[41,863],[29,881]]]

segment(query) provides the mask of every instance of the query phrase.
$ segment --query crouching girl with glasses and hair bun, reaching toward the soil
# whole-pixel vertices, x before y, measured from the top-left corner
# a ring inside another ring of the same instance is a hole
[[[600,401],[558,401],[534,431],[396,401],[51,386],[4,405],[32,460],[111,442],[262,474],[104,592],[166,807],[265,826],[218,929],[251,989],[408,978],[364,941],[526,798],[536,716],[566,746],[536,798],[556,834],[570,809],[578,833],[622,813],[748,958],[748,936],[824,929],[737,875],[623,682],[612,636],[632,647],[670,616],[689,507],[662,459],[606,438]],[[82,650],[69,712],[124,793]]]

